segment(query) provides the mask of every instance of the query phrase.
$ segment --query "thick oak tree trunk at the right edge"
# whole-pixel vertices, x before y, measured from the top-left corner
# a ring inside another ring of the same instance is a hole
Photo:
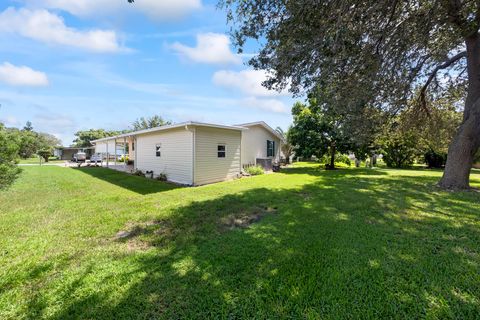
[[[470,170],[480,146],[480,38],[466,39],[468,91],[463,121],[448,148],[447,163],[439,186],[444,189],[468,189]]]

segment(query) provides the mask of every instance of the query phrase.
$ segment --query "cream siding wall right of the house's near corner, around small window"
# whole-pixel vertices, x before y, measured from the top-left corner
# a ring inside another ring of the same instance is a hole
[[[195,128],[195,185],[234,178],[240,174],[239,130]],[[218,158],[217,146],[226,145],[225,158]]]

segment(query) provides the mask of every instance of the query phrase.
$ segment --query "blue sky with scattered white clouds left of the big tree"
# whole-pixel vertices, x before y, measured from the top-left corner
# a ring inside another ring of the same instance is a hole
[[[89,128],[126,129],[162,115],[286,128],[293,99],[230,44],[225,12],[206,0],[2,0],[0,121],[63,144]]]

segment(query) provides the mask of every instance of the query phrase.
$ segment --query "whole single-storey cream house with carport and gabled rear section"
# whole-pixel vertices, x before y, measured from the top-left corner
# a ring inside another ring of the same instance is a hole
[[[92,143],[96,153],[107,155],[120,146],[133,160],[133,170],[165,174],[179,184],[203,185],[238,177],[243,164],[278,160],[280,141],[264,122],[226,126],[189,121]]]

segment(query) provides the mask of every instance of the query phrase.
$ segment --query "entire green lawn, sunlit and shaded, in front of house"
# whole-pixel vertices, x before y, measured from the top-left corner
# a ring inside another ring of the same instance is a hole
[[[480,193],[440,174],[23,167],[0,193],[0,318],[478,319]]]

